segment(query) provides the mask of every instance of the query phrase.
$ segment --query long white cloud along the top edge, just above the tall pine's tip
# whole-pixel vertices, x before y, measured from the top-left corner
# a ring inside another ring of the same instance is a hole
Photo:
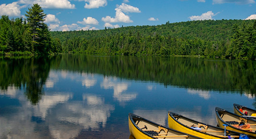
[[[38,3],[42,8],[48,9],[75,9],[75,5],[69,0],[19,0],[22,4]]]

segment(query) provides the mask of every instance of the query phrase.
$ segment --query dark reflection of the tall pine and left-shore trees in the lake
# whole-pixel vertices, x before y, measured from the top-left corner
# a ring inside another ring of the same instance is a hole
[[[1,58],[0,89],[9,86],[25,88],[24,94],[33,105],[36,105],[44,94],[45,84],[50,67],[59,65],[61,56],[38,58]],[[58,66],[57,66],[58,67]]]

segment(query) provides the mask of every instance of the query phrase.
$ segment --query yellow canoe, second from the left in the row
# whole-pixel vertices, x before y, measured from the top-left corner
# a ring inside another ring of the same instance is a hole
[[[168,112],[168,124],[171,129],[182,131],[203,139],[229,139],[228,136],[239,139],[240,137],[240,133],[238,132],[226,130],[225,135],[224,129],[222,128],[198,122],[171,111]]]

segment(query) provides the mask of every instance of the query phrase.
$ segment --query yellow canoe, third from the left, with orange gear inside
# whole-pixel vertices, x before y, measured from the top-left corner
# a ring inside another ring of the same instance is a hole
[[[226,124],[228,125],[226,129],[256,137],[256,120],[234,114],[218,107],[215,108],[215,112],[219,127],[224,128],[223,124]],[[244,125],[239,126],[242,123]]]

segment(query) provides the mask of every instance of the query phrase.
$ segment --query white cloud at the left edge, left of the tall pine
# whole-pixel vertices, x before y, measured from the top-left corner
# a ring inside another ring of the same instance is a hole
[[[1,4],[0,5],[0,15],[9,15],[9,16],[20,16],[21,10],[17,2],[12,2],[10,4]]]

